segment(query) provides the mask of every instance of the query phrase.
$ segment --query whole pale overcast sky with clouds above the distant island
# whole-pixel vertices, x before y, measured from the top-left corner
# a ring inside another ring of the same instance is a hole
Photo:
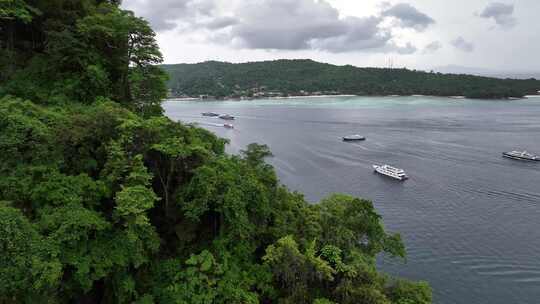
[[[539,0],[124,0],[166,63],[310,58],[540,70]]]

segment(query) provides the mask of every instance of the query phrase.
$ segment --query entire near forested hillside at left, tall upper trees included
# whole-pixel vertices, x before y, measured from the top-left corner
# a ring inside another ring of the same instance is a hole
[[[155,34],[118,1],[0,1],[0,303],[431,303],[369,201],[309,204],[162,115]]]

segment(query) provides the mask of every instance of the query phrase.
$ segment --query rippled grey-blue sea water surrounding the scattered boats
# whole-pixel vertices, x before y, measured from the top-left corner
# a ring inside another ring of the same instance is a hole
[[[540,98],[473,101],[431,97],[176,101],[167,114],[231,140],[230,152],[268,144],[284,184],[318,201],[345,192],[374,201],[400,232],[406,264],[391,274],[427,280],[435,303],[540,303],[540,163],[501,152],[540,153]],[[234,130],[202,118],[237,116]],[[340,137],[359,133],[362,143]],[[375,175],[372,164],[411,179]]]

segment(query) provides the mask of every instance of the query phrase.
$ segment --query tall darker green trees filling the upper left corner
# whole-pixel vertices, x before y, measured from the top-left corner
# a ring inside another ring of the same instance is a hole
[[[166,75],[148,24],[104,0],[0,0],[0,94],[40,104],[107,96],[159,114]]]

